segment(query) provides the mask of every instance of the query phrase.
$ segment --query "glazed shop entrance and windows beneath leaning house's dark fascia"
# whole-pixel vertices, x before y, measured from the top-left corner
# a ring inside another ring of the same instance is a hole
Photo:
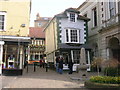
[[[73,71],[76,71],[77,66],[80,64],[80,50],[68,50],[68,52],[61,51],[61,55],[63,56],[63,69],[68,69],[68,62],[72,60],[73,64]],[[86,50],[86,63],[90,65],[90,50]],[[88,68],[88,71],[90,67]]]

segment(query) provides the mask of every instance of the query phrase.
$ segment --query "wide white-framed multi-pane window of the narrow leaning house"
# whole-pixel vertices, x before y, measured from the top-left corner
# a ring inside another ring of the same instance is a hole
[[[66,43],[79,43],[79,30],[66,29]]]

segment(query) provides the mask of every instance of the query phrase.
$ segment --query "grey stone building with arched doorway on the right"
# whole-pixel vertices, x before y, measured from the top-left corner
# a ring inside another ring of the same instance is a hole
[[[120,61],[120,1],[86,0],[80,5],[81,15],[90,18],[88,42],[93,46],[95,57],[115,58]]]

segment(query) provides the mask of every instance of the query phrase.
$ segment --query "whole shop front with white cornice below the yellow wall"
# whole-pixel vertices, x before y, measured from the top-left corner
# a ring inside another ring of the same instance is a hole
[[[22,75],[25,60],[27,60],[26,49],[29,44],[29,37],[3,38],[2,74]]]

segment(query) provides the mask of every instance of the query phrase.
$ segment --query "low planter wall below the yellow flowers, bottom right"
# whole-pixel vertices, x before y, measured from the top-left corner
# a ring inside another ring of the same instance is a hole
[[[106,84],[106,83],[96,83],[91,81],[85,81],[86,88],[120,88],[120,84]]]

